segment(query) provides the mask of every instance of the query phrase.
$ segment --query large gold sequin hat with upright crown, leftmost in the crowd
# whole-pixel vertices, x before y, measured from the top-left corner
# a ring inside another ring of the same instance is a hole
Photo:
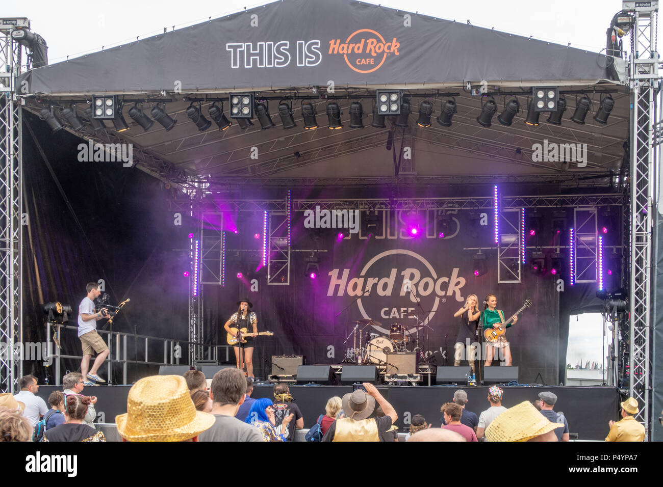
[[[115,417],[117,432],[127,441],[186,441],[214,420],[210,413],[196,411],[182,376],[139,380],[129,390],[127,413]]]

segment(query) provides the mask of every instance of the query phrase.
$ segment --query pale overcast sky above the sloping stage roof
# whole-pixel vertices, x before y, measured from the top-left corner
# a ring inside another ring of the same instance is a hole
[[[284,0],[288,1],[288,0]],[[331,0],[345,1],[345,0]],[[32,30],[48,44],[48,60],[74,58],[88,52],[124,44],[163,32],[164,27],[184,27],[271,3],[253,0],[31,0],[5,2],[3,17],[28,17]],[[620,9],[621,0],[375,0],[367,3],[432,15],[472,25],[534,36],[599,52],[605,48],[605,30]],[[628,49],[629,42],[625,42]]]

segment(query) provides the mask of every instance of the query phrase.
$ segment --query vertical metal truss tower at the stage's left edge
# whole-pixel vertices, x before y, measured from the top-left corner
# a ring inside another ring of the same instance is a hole
[[[0,392],[18,392],[23,376],[22,357],[14,353],[15,345],[23,343],[23,127],[21,105],[15,95],[21,52],[21,45],[11,38],[11,28],[0,27]]]

